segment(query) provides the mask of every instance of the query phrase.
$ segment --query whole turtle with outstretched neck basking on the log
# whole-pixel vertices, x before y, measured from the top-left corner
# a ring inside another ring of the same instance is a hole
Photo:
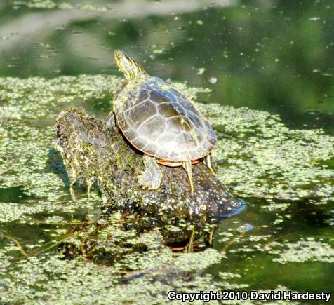
[[[209,170],[217,137],[210,123],[171,83],[149,76],[123,50],[114,58],[126,82],[114,95],[116,126],[143,154],[144,170],[138,177],[143,189],[158,189],[163,176],[158,164],[182,166],[194,192],[192,165],[203,160]]]

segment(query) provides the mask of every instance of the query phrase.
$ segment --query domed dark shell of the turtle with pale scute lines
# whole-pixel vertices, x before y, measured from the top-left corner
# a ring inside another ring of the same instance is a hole
[[[134,147],[163,161],[194,161],[217,141],[185,95],[158,77],[131,79],[114,98],[116,121]]]

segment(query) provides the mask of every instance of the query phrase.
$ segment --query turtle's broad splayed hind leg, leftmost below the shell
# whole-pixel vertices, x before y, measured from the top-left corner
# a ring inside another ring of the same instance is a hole
[[[162,172],[153,157],[144,155],[144,171],[138,177],[138,182],[143,189],[158,189],[161,184]]]

